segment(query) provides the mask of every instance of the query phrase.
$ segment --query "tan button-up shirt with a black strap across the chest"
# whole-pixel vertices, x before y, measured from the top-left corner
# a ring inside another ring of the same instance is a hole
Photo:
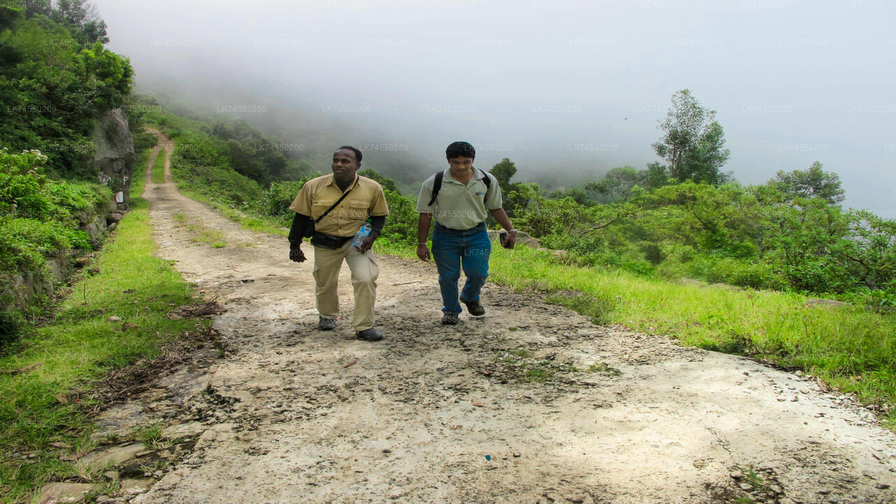
[[[354,236],[368,217],[382,217],[389,214],[383,187],[375,180],[358,176],[356,182],[346,191],[350,191],[349,196],[345,196],[339,206],[327,213],[321,222],[315,223],[314,230],[331,236]],[[324,175],[308,180],[289,205],[289,210],[317,219],[340,197],[342,191],[336,185],[333,176]]]

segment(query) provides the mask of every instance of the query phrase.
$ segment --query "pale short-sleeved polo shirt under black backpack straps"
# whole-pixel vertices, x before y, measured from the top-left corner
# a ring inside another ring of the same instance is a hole
[[[482,178],[491,178],[492,187],[487,188]],[[417,200],[418,213],[432,213],[435,222],[452,230],[469,230],[486,220],[489,210],[502,207],[501,187],[494,175],[473,168],[473,177],[466,184],[461,184],[451,176],[451,169],[445,169],[442,175],[442,187],[435,197],[435,203],[429,206],[433,197],[435,175],[426,178],[420,187]]]

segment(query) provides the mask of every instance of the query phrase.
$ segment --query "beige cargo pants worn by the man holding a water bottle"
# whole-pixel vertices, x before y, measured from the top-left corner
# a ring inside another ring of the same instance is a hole
[[[336,286],[344,259],[349,264],[351,285],[355,288],[355,311],[351,325],[355,331],[363,331],[374,326],[376,277],[380,274],[380,268],[376,265],[372,250],[362,254],[350,243],[348,241],[335,250],[314,247],[314,297],[321,317],[339,317],[339,291]]]

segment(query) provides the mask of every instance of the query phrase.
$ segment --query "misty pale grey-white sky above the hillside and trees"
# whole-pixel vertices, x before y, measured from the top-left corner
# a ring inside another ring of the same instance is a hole
[[[479,168],[510,158],[514,181],[551,187],[644,168],[686,88],[742,183],[821,161],[846,205],[896,219],[896,0],[93,4],[138,91],[308,152],[354,144],[406,181],[443,169],[455,140]]]

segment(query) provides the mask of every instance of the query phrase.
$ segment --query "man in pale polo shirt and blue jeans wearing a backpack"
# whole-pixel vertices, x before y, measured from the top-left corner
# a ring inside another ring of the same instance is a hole
[[[423,182],[417,200],[420,214],[417,227],[417,256],[429,260],[426,237],[435,220],[433,252],[439,271],[442,291],[442,323],[455,325],[461,313],[457,285],[461,267],[467,282],[461,290],[461,302],[470,315],[480,317],[486,308],[479,302],[479,292],[488,277],[488,256],[492,242],[488,239],[486,218],[495,217],[507,230],[504,247],[513,248],[516,230],[504,212],[501,187],[495,177],[473,167],[476,150],[470,143],[454,142],[445,149],[449,168]]]

